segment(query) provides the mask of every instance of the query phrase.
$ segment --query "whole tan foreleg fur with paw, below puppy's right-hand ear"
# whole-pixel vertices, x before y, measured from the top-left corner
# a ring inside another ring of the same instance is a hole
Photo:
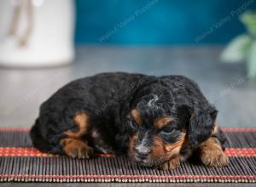
[[[225,155],[217,138],[210,137],[199,149],[201,161],[207,167],[224,167],[229,164],[229,157]]]

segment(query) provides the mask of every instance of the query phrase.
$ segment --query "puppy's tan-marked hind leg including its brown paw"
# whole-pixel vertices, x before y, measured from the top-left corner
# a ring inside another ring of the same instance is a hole
[[[89,116],[81,112],[73,117],[73,122],[78,126],[78,131],[65,132],[65,137],[61,139],[62,150],[73,158],[90,158],[94,155],[94,150],[84,138],[90,129]]]

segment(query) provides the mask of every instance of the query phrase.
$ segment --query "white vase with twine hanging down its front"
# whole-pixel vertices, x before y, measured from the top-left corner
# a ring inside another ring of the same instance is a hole
[[[73,62],[73,0],[0,1],[0,65]]]

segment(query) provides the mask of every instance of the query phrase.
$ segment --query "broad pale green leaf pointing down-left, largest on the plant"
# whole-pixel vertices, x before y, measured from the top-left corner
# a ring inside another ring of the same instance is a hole
[[[235,37],[230,44],[224,48],[220,59],[224,62],[241,62],[247,59],[253,39],[247,35]]]

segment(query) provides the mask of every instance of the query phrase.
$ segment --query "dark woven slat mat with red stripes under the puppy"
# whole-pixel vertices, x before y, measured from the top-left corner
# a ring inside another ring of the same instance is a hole
[[[224,128],[230,165],[183,162],[176,170],[140,167],[125,156],[90,160],[52,156],[32,148],[28,128],[0,128],[0,182],[256,182],[256,128]]]

